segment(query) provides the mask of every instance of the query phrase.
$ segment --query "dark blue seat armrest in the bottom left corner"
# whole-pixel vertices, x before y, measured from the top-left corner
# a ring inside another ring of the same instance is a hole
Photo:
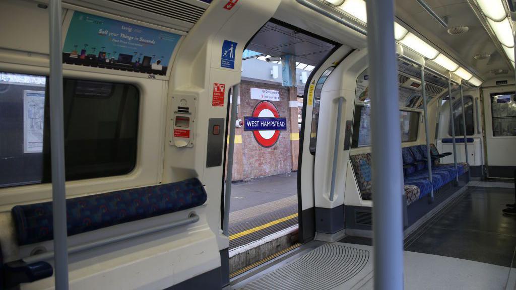
[[[3,265],[4,285],[7,289],[21,283],[29,283],[52,277],[54,269],[47,262],[27,264],[22,260],[9,262]]]

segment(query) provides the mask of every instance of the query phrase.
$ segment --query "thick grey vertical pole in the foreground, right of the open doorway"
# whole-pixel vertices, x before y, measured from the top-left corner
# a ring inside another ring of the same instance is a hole
[[[403,289],[403,173],[393,0],[368,0],[375,289]]]

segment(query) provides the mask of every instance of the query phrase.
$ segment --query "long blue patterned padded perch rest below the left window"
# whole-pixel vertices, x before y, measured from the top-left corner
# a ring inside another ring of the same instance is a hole
[[[197,178],[68,199],[68,235],[186,210],[204,204],[206,199]],[[11,213],[19,245],[53,238],[52,202],[17,205]]]

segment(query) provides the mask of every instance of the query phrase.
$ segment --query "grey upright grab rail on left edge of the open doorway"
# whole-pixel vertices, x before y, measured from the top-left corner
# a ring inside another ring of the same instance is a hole
[[[240,84],[234,85],[231,90],[233,97],[231,101],[231,117],[229,121],[229,149],[228,149],[228,169],[226,173],[226,187],[224,192],[224,223],[222,233],[229,236],[229,210],[231,203],[231,182],[233,181],[233,154],[235,152],[235,124],[238,110],[238,95],[240,94]]]

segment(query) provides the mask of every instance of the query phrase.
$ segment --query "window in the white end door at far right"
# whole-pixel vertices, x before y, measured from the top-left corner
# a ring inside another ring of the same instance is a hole
[[[516,136],[516,99],[514,93],[491,94],[493,137]]]

